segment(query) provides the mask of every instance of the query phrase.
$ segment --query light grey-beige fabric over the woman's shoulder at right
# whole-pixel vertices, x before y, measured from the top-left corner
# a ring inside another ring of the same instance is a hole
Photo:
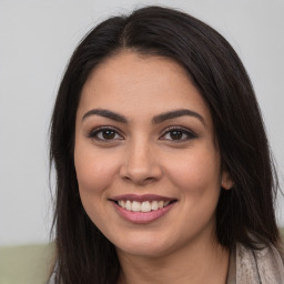
[[[273,245],[252,250],[237,243],[235,265],[236,283],[284,283],[283,260]]]

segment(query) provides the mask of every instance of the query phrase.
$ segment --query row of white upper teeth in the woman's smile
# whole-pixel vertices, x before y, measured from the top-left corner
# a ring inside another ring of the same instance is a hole
[[[165,207],[170,204],[170,201],[144,201],[144,202],[138,202],[138,201],[118,201],[119,205],[128,211],[133,212],[150,212],[154,210],[159,210],[162,207]]]

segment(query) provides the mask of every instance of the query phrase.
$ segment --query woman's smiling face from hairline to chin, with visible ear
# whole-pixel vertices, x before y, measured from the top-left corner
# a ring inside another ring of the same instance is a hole
[[[212,240],[221,172],[210,110],[178,63],[123,51],[82,90],[74,163],[87,214],[119,252]],[[223,183],[222,183],[223,179]]]

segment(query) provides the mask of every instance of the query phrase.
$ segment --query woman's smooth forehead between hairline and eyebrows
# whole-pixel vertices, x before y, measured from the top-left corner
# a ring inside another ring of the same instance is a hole
[[[79,112],[92,108],[124,115],[155,115],[186,108],[212,124],[209,106],[183,67],[170,59],[131,51],[106,59],[90,74]]]

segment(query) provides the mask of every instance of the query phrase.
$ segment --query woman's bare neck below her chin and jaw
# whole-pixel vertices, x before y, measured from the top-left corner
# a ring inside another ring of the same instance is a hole
[[[204,240],[203,240],[204,241]],[[225,284],[229,251],[216,242],[199,242],[158,257],[129,255],[118,251],[119,284]]]

